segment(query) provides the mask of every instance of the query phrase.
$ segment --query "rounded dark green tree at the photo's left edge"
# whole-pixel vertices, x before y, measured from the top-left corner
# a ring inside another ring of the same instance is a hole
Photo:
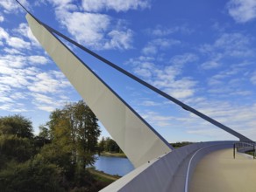
[[[0,118],[0,168],[8,161],[24,162],[35,153],[32,122],[21,115]]]

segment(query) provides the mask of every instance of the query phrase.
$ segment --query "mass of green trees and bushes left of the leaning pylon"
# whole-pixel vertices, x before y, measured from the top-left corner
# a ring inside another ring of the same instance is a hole
[[[82,100],[56,109],[32,132],[22,115],[0,117],[0,191],[98,191],[106,183],[89,174],[101,133]]]

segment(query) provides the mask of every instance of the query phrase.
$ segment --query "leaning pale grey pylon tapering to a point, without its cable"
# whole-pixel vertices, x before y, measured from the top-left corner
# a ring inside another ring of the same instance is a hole
[[[33,35],[136,168],[172,150],[160,134],[139,117],[138,113],[120,99],[66,45],[30,14],[26,15],[26,19]]]

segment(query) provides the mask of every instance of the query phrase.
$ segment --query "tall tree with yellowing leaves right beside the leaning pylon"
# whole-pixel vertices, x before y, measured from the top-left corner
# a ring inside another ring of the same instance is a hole
[[[53,144],[67,151],[74,165],[79,162],[85,168],[94,163],[100,129],[95,114],[82,100],[53,111],[47,125]]]

